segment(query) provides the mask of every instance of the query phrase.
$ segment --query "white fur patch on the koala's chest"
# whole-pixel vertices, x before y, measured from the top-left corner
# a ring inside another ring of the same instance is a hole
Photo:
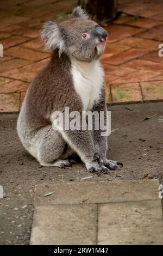
[[[82,99],[83,111],[89,111],[101,96],[103,68],[98,60],[91,63],[72,60],[71,63],[74,88]]]

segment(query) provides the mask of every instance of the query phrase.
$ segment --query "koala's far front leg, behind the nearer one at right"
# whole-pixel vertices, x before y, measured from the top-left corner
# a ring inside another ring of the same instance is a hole
[[[101,97],[98,102],[92,108],[92,112],[97,111],[100,113],[104,112],[104,124],[106,125],[106,103],[105,103],[105,88],[102,88]],[[104,132],[101,130],[99,119],[95,119],[99,123],[99,130],[95,130],[95,125],[93,125],[93,142],[97,155],[104,161],[106,160],[106,151],[108,149],[107,136],[101,136],[101,133]]]

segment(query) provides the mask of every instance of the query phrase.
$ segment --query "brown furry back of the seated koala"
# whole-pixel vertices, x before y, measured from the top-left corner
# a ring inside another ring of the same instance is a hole
[[[30,84],[18,117],[18,136],[26,149],[37,131],[51,124],[54,111],[62,111],[65,105],[71,105],[73,96],[78,99],[73,87],[70,60],[64,54],[59,58],[54,52],[52,60]]]

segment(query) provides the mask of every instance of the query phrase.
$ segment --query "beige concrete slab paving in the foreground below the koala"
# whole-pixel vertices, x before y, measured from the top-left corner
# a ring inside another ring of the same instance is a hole
[[[158,187],[157,179],[36,185],[30,245],[162,245]]]

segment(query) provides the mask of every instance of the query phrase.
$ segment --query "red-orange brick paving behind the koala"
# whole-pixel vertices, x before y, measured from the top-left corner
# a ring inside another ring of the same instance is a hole
[[[0,11],[0,112],[17,112],[36,73],[50,57],[39,40],[42,22],[61,21],[76,0],[2,1]],[[118,0],[121,16],[105,29],[109,32],[102,57],[106,101],[130,103],[163,99],[162,0]],[[138,19],[136,19],[138,17]]]

